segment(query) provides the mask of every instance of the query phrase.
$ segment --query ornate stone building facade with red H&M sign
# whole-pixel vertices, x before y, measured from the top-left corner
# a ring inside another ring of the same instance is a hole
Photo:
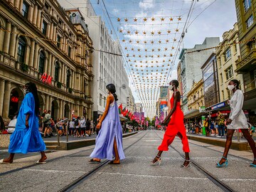
[[[91,118],[92,40],[79,11],[56,0],[0,4],[0,115],[14,117],[23,85],[35,82],[41,110],[53,119]]]

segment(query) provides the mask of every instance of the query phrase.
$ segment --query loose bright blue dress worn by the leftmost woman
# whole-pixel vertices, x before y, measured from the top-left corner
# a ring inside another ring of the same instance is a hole
[[[25,125],[26,114],[30,114],[28,128]],[[43,142],[38,127],[38,115],[35,114],[35,99],[33,94],[28,92],[21,103],[14,133],[11,134],[9,153],[26,154],[28,152],[45,151],[46,144]]]

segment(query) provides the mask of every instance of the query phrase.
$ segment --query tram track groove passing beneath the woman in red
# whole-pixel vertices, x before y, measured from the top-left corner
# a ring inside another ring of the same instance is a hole
[[[156,131],[154,131],[156,133]],[[157,134],[157,137],[159,137],[160,139],[162,139],[159,134]],[[171,146],[171,149],[174,149],[174,151],[176,151],[180,156],[183,157],[183,159],[185,159],[185,156],[183,154],[181,154],[180,151],[178,151],[177,149],[174,148],[174,146]],[[196,161],[192,161],[193,166],[196,167],[196,169],[201,172],[201,174],[203,174],[204,176],[206,176],[210,181],[212,181],[216,186],[218,186],[219,188],[221,188],[223,191],[225,192],[235,192],[235,190],[233,190],[233,188],[230,188],[230,186],[226,185],[225,183],[223,183],[222,181],[220,181],[220,179],[216,178],[213,174],[210,174],[209,171],[207,171],[206,169],[204,169],[202,166],[200,166],[199,164],[196,163]]]

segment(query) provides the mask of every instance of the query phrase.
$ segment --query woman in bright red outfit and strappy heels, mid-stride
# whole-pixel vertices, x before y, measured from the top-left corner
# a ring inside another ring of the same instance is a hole
[[[169,112],[166,119],[164,119],[164,122],[162,124],[167,124],[166,132],[164,133],[164,139],[159,146],[159,152],[154,158],[153,161],[151,161],[151,164],[161,164],[161,154],[163,151],[168,151],[168,146],[174,141],[174,138],[176,135],[178,135],[179,138],[181,138],[181,142],[183,144],[183,151],[185,152],[186,159],[181,165],[182,168],[188,168],[188,166],[191,165],[191,160],[189,159],[189,146],[188,146],[188,137],[186,137],[186,129],[184,127],[183,123],[183,112],[181,111],[181,94],[177,90],[178,87],[178,80],[171,80],[169,84],[169,90],[173,90],[174,94],[171,97],[171,112]],[[170,119],[171,118],[171,119]]]

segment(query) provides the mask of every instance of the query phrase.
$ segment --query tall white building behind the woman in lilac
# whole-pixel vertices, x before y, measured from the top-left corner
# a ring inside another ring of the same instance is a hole
[[[129,78],[124,68],[124,60],[122,58],[121,46],[118,41],[113,41],[110,31],[107,30],[105,22],[101,16],[97,16],[89,0],[58,0],[64,9],[78,9],[85,18],[87,28],[89,29],[90,38],[92,38],[92,74],[95,75],[92,81],[92,112],[93,119],[97,118],[97,114],[102,114],[105,109],[107,100],[106,85],[113,83],[116,86],[116,94],[118,97],[118,105],[122,103],[123,107],[127,107],[127,97],[131,97],[129,92]],[[82,7],[80,7],[82,5]],[[102,51],[99,51],[102,50]],[[104,53],[103,51],[116,53]],[[134,100],[134,99],[133,99]]]

